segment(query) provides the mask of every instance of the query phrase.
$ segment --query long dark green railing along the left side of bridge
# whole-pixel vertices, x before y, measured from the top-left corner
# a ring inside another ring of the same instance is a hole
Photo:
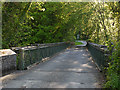
[[[24,70],[29,65],[40,62],[43,58],[50,57],[63,49],[66,49],[69,43],[50,43],[50,44],[34,44],[28,47],[13,47],[17,53],[17,69]]]

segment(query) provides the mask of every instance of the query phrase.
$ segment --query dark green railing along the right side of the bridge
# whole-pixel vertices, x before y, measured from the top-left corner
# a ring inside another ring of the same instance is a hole
[[[108,66],[107,60],[109,51],[107,50],[107,47],[103,45],[88,43],[87,48],[99,70],[103,71],[104,67]]]

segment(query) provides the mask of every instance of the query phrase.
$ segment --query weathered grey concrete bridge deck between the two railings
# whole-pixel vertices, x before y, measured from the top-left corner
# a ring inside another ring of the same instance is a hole
[[[6,88],[98,88],[102,75],[85,48],[71,48],[37,66],[11,75]]]

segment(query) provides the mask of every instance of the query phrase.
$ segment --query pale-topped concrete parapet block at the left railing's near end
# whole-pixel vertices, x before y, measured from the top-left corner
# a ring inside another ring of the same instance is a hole
[[[16,53],[10,49],[0,50],[0,61],[2,66],[0,71],[2,71],[2,76],[9,74],[16,70]]]

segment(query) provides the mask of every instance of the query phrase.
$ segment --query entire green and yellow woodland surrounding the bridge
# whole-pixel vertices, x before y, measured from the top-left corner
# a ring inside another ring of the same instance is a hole
[[[2,48],[80,40],[112,51],[104,87],[120,89],[120,2],[4,2]],[[111,44],[112,43],[112,44]]]

